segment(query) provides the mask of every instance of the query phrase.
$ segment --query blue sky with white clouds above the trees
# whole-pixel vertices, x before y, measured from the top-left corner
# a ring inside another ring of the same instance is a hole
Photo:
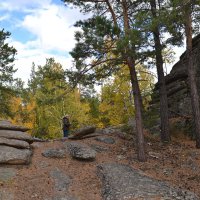
[[[11,33],[9,44],[18,53],[15,76],[27,83],[32,63],[44,65],[53,57],[63,68],[72,66],[69,52],[75,46],[73,26],[87,18],[61,0],[6,0],[0,2],[0,29]],[[176,50],[176,60],[183,49]],[[170,68],[170,67],[169,67]],[[170,69],[168,69],[169,71]]]

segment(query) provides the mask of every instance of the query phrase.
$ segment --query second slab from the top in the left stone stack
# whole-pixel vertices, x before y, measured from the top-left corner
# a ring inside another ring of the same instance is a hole
[[[29,134],[22,131],[0,130],[0,137],[7,139],[24,140],[28,143],[33,142],[33,138]]]

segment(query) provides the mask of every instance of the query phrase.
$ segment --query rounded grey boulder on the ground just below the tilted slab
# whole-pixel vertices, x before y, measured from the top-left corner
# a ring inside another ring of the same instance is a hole
[[[67,143],[67,149],[69,154],[78,160],[94,160],[96,157],[96,151],[86,144],[80,142]]]

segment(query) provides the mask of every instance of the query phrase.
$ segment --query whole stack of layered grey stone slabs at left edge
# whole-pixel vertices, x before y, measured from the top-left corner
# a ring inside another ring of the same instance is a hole
[[[0,121],[0,164],[29,164],[33,138],[26,133],[26,127]]]

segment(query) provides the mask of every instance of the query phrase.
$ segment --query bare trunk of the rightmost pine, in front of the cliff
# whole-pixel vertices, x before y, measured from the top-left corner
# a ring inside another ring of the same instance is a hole
[[[190,86],[190,96],[192,103],[192,111],[195,122],[195,134],[196,134],[196,147],[200,148],[200,105],[199,95],[196,84],[196,70],[192,57],[192,18],[190,4],[185,6],[185,33],[186,33],[186,52],[188,61],[188,78]]]

